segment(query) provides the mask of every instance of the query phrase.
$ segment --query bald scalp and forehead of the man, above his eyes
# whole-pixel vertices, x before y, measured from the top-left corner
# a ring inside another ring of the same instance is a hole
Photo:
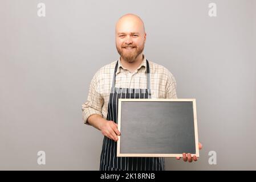
[[[116,23],[116,33],[123,31],[139,31],[141,34],[145,34],[143,20],[135,14],[126,14],[121,16],[121,18],[119,18],[119,20]]]

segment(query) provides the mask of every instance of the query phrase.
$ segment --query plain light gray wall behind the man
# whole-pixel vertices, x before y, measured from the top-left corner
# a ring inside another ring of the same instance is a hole
[[[255,10],[253,0],[2,0],[0,169],[99,169],[103,136],[83,124],[81,107],[97,69],[119,57],[116,20],[135,13],[147,58],[173,73],[178,98],[197,100],[201,157],[168,159],[166,169],[255,170]],[[40,150],[46,165],[37,164]]]

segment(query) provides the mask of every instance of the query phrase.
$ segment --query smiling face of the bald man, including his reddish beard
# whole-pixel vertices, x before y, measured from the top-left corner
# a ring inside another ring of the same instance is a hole
[[[120,20],[116,26],[116,49],[122,59],[132,63],[143,52],[146,34],[136,19]]]

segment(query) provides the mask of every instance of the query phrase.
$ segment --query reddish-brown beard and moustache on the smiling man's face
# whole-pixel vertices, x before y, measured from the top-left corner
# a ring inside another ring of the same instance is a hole
[[[141,54],[141,52],[143,52],[144,44],[145,43],[143,43],[143,45],[141,47],[127,45],[127,46],[121,46],[121,48],[120,48],[120,47],[116,46],[116,49],[122,59],[124,59],[125,61],[128,61],[129,63],[132,63]],[[125,49],[125,47],[133,47],[133,48]]]

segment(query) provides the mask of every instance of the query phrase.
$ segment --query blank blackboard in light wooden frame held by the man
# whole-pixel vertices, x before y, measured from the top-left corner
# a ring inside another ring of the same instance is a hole
[[[119,99],[117,156],[199,157],[196,99]]]

